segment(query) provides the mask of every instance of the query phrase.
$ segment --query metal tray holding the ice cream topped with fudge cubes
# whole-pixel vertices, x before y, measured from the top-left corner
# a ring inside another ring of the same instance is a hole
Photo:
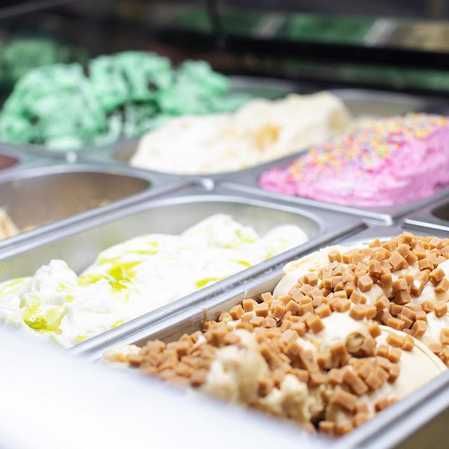
[[[397,235],[403,232],[402,227],[382,227],[373,226],[363,230],[358,234],[341,239],[335,239],[332,243],[352,245],[355,243],[368,243],[375,237],[387,240],[389,236]],[[434,233],[429,229],[417,230],[419,234],[432,234],[439,236],[448,236],[445,233]],[[310,253],[304,251],[298,256]],[[202,302],[189,304],[177,314],[170,314],[166,319],[148,322],[147,326],[129,326],[126,333],[121,337],[112,334],[109,340],[93,338],[90,342],[83,343],[74,347],[70,351],[74,354],[83,354],[92,361],[99,361],[107,349],[125,345],[142,345],[147,340],[159,339],[165,342],[177,340],[184,333],[194,333],[202,328],[204,321],[216,320],[224,311],[229,311],[236,304],[241,304],[242,300],[248,297],[257,297],[260,293],[272,291],[281,279],[281,266],[265,272],[256,279],[249,280],[243,285],[236,286],[225,293],[220,293],[215,297],[207,297]],[[129,323],[130,324],[130,323]],[[122,326],[125,330],[127,325]],[[107,336],[107,334],[103,335]],[[90,344],[89,344],[90,343]],[[449,372],[439,375],[436,379],[425,384],[419,390],[401,399],[376,415],[368,423],[358,427],[350,434],[337,440],[328,440],[321,435],[310,439],[310,436],[304,436],[298,431],[295,439],[296,443],[304,448],[316,447],[326,444],[326,446],[335,449],[349,448],[392,448],[402,447],[401,442],[409,438],[420,436],[421,441],[426,437],[425,431],[429,425],[438,425],[440,434],[431,434],[428,437],[436,441],[438,436],[442,436],[444,429],[443,420],[444,410],[449,407]],[[316,438],[316,439],[315,439]],[[443,446],[438,446],[443,447]]]

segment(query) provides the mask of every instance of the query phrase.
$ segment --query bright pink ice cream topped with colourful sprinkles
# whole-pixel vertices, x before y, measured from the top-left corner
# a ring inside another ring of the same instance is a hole
[[[448,117],[393,116],[311,148],[262,173],[263,189],[347,206],[391,206],[449,185]]]

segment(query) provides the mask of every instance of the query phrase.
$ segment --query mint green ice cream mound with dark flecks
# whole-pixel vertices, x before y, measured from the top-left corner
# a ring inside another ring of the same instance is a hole
[[[207,62],[144,51],[100,55],[86,65],[29,70],[0,112],[0,140],[69,152],[141,135],[172,116],[232,111],[248,96],[229,94]]]

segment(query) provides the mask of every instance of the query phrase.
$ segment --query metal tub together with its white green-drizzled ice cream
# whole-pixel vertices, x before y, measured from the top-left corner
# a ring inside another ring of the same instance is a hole
[[[342,225],[326,233],[309,211],[225,196],[172,201],[111,211],[24,244],[34,249],[2,263],[4,322],[72,346],[162,306],[176,309],[173,301],[196,290],[254,276],[307,240],[316,244],[319,232],[356,226],[339,217]]]

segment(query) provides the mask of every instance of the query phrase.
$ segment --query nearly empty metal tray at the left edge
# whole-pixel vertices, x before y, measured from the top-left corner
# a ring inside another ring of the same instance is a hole
[[[0,248],[186,184],[114,165],[54,159],[36,159],[33,165],[0,173],[0,207],[20,230],[0,241]]]

